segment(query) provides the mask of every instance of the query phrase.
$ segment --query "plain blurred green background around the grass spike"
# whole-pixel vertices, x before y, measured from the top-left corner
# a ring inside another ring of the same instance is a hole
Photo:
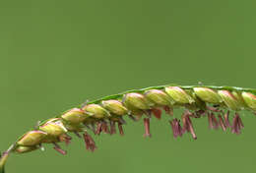
[[[239,0],[1,0],[0,149],[38,120],[127,89],[256,87],[255,16],[255,3]],[[241,136],[198,120],[197,141],[173,140],[167,116],[153,120],[152,139],[128,120],[125,137],[96,137],[95,153],[74,137],[67,156],[46,145],[12,155],[7,171],[253,172],[256,118],[242,119]]]

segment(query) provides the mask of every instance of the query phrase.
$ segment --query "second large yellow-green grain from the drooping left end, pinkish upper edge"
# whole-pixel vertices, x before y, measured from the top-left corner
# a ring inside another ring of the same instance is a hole
[[[68,132],[61,120],[58,118],[51,119],[44,123],[39,127],[39,130],[47,133],[47,135],[51,137],[59,137]]]

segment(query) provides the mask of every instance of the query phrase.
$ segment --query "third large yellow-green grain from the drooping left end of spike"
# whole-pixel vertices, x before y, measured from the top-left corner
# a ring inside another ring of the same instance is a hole
[[[89,115],[79,108],[73,108],[61,116],[62,119],[72,124],[82,123],[88,117]]]

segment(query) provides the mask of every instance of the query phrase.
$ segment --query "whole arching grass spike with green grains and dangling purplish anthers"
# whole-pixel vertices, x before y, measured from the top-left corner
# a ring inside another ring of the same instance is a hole
[[[174,108],[184,109],[180,118],[172,117]],[[189,133],[196,140],[192,120],[204,117],[207,117],[210,129],[230,129],[233,134],[238,135],[244,128],[238,112],[244,109],[256,112],[256,89],[167,85],[128,90],[87,102],[58,117],[41,122],[1,154],[0,173],[4,172],[5,162],[12,152],[25,153],[43,149],[42,144],[53,144],[56,151],[66,154],[67,151],[59,143],[70,144],[72,138],[69,133],[83,139],[86,148],[94,151],[96,143],[90,133],[97,136],[101,133],[113,135],[118,130],[120,135],[124,135],[126,116],[134,121],[144,117],[146,138],[152,136],[152,116],[160,119],[162,111],[170,117],[169,124],[174,138]],[[230,111],[233,112],[232,121],[229,120]]]

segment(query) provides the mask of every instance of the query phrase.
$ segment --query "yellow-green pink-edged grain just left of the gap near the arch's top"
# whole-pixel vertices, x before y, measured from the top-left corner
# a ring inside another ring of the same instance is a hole
[[[180,87],[165,87],[165,91],[177,103],[191,104],[191,103],[195,102],[195,100],[184,89],[182,89]]]

